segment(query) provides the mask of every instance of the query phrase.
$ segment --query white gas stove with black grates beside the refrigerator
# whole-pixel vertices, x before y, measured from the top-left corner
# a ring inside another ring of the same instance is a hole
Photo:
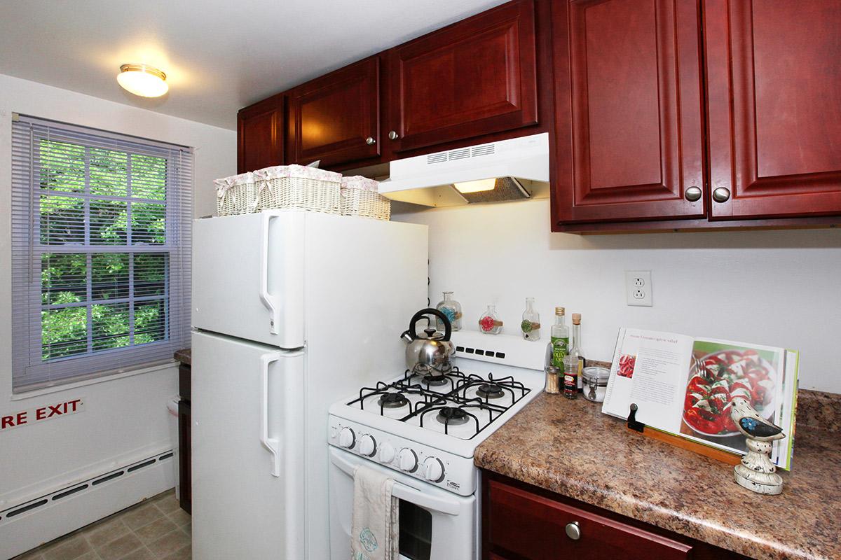
[[[452,342],[456,353],[446,372],[407,370],[331,406],[332,557],[346,557],[352,477],[359,465],[397,483],[402,557],[478,557],[479,469],[473,453],[540,394],[546,344],[479,332],[454,332]]]

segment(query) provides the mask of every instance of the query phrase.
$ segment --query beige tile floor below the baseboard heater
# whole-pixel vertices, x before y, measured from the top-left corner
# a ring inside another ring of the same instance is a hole
[[[168,490],[13,560],[190,560],[190,516]]]

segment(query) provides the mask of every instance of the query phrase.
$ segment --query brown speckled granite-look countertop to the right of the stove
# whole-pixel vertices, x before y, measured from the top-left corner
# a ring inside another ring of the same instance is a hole
[[[838,560],[841,432],[803,420],[778,496],[743,489],[733,467],[628,432],[600,404],[563,395],[538,395],[479,445],[474,462],[748,557]]]

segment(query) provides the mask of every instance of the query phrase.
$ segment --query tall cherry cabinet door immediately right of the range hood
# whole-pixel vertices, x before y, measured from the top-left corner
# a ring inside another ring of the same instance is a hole
[[[553,2],[557,222],[705,215],[698,8]]]

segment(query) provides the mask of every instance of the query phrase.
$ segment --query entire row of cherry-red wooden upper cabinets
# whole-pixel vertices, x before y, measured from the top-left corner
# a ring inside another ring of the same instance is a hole
[[[838,223],[838,0],[515,0],[239,115],[239,168],[550,133],[553,231]]]

